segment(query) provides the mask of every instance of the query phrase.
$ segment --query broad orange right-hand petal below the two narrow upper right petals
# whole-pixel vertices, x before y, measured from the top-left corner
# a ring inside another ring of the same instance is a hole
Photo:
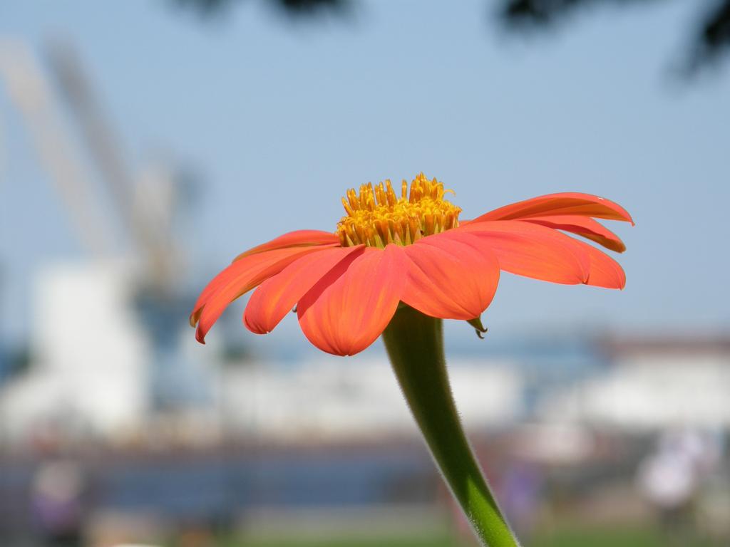
[[[588,255],[576,240],[530,222],[496,220],[470,222],[454,231],[483,238],[499,260],[499,268],[512,274],[563,284],[580,284],[588,279]]]

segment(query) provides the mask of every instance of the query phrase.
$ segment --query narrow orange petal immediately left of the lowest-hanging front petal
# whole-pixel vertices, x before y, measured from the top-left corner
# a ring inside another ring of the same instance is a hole
[[[252,333],[270,333],[322,276],[353,252],[361,254],[363,249],[363,246],[324,249],[299,258],[280,274],[266,279],[248,300],[244,325]]]

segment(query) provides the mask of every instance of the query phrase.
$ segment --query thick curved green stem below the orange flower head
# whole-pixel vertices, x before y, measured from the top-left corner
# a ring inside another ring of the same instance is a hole
[[[519,547],[461,428],[446,371],[441,319],[401,304],[383,341],[426,444],[477,536],[488,547]]]

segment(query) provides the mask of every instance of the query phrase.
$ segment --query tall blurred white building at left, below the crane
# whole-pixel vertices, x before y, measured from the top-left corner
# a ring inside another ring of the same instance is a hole
[[[59,426],[110,435],[147,407],[149,344],[131,309],[131,272],[101,260],[47,266],[37,279],[31,371],[0,387],[10,440]]]

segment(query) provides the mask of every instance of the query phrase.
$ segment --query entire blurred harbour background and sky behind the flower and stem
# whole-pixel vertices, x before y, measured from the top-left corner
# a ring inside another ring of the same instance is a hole
[[[419,171],[631,212],[622,292],[505,274],[456,400],[526,547],[730,545],[730,2],[0,6],[0,544],[472,546],[380,342],[265,337],[232,257]],[[614,228],[614,227],[611,227]]]

